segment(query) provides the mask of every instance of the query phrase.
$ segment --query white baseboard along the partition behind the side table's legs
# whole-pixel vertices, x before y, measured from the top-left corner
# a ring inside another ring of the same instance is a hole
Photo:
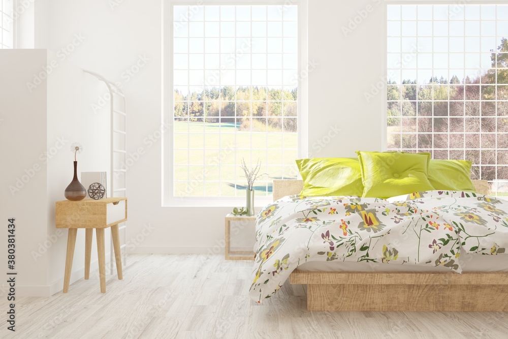
[[[110,253],[106,253],[106,274],[108,274],[110,263]],[[90,261],[90,272],[99,270],[99,261]],[[92,274],[90,274],[92,275]],[[85,276],[85,266],[71,273],[71,284],[82,279]],[[92,276],[90,276],[92,279]],[[98,281],[99,284],[99,281]],[[71,287],[72,288],[72,287]],[[51,285],[47,286],[16,286],[16,296],[20,297],[50,297],[63,290],[63,275]]]

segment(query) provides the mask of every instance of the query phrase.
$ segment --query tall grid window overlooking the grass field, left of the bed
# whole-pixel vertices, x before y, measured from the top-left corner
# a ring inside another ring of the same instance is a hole
[[[257,196],[296,178],[298,6],[174,6],[175,197]]]

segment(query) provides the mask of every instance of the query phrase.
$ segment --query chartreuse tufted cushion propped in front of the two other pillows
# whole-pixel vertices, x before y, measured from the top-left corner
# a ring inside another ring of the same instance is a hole
[[[432,191],[427,178],[430,153],[357,151],[362,170],[362,197],[389,198]]]

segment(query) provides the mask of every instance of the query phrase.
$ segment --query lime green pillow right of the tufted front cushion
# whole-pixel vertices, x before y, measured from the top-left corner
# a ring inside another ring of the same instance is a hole
[[[433,159],[429,166],[429,181],[435,190],[475,192],[471,164],[467,160]]]

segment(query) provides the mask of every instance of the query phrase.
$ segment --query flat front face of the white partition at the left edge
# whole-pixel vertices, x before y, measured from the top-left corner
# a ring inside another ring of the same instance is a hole
[[[27,294],[47,285],[49,260],[42,256],[36,261],[30,253],[46,237],[47,167],[39,157],[47,150],[47,85],[43,81],[34,93],[26,87],[26,80],[45,64],[45,50],[0,50],[2,260],[7,265],[7,220],[15,218],[17,292],[30,286]]]

